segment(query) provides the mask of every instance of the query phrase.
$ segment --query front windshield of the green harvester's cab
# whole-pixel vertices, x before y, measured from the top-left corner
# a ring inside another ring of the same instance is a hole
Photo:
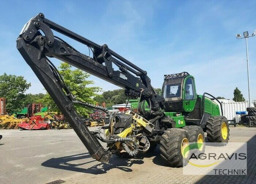
[[[164,85],[164,98],[172,97],[181,97],[181,83]]]

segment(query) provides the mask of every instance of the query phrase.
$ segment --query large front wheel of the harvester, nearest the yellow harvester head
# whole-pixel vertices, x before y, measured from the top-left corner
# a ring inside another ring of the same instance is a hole
[[[160,140],[160,155],[164,161],[173,167],[182,167],[183,158],[189,158],[189,134],[181,128],[171,128],[164,131]]]

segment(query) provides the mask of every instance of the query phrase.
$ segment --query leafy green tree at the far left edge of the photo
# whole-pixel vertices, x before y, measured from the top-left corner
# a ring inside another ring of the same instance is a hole
[[[31,86],[23,76],[0,75],[0,97],[6,98],[6,111],[15,113],[23,108],[25,91]]]

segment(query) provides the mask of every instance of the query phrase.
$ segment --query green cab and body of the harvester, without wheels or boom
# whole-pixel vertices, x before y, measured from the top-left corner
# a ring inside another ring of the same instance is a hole
[[[210,97],[206,97],[210,96]],[[162,96],[165,98],[164,114],[173,119],[176,128],[198,125],[205,128],[211,116],[220,116],[221,104],[214,96],[204,93],[197,95],[195,78],[187,72],[164,75]],[[139,100],[131,103],[131,109],[138,111]],[[147,103],[145,110],[149,110]]]

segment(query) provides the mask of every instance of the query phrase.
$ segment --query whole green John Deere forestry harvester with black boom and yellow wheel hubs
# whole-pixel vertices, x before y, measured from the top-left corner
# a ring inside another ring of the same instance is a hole
[[[84,44],[93,56],[79,52],[55,36],[53,30]],[[208,93],[197,95],[194,77],[187,72],[164,75],[160,96],[151,86],[146,71],[106,44],[98,45],[46,19],[43,13],[24,25],[17,39],[17,49],[90,155],[100,162],[108,163],[112,154],[135,157],[160,144],[163,160],[170,166],[179,167],[183,164],[183,158],[188,158],[191,152],[188,150],[190,142],[198,144],[197,152],[204,152],[204,132],[207,132],[210,142],[228,142],[228,121],[221,116],[222,108],[217,104],[220,102]],[[77,100],[50,61],[51,57],[124,88],[130,98],[140,98],[138,113],[128,110],[110,114],[104,107]],[[104,111],[110,117],[110,123],[96,131],[89,131],[74,104]],[[148,104],[148,109],[145,104]],[[99,140],[107,143],[107,149],[102,147]]]

